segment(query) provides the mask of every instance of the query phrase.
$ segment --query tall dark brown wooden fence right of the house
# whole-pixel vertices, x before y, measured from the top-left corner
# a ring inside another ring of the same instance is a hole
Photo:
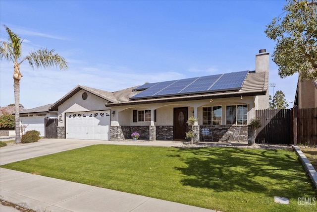
[[[317,108],[256,110],[257,143],[317,145]]]

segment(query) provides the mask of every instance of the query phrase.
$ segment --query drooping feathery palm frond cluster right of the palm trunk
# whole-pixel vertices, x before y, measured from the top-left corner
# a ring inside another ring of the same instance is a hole
[[[40,49],[31,52],[25,59],[29,61],[29,65],[34,68],[50,68],[56,67],[60,70],[67,69],[66,60],[58,54],[53,54],[55,50]]]

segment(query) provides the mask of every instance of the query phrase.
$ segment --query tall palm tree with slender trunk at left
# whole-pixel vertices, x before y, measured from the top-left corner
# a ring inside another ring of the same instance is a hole
[[[3,25],[9,37],[7,42],[0,42],[0,59],[6,59],[13,62],[13,88],[14,88],[14,105],[15,105],[15,143],[21,142],[20,138],[20,80],[22,74],[20,65],[24,61],[29,61],[29,65],[34,68],[50,68],[56,67],[60,70],[67,69],[66,60],[58,54],[53,54],[55,50],[48,49],[34,50],[24,58],[21,58],[21,38],[12,32],[7,26]]]

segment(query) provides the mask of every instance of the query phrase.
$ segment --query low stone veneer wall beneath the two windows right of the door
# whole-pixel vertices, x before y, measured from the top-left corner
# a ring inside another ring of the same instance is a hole
[[[242,125],[242,126],[201,125],[200,126],[201,141],[203,141],[202,131],[201,131],[203,128],[209,128],[209,131],[212,132],[213,141],[225,141],[229,137],[229,132],[234,133],[236,128],[240,128],[239,140],[241,142],[248,142],[252,132],[251,128],[246,125]],[[211,141],[211,136],[207,138],[205,137],[205,141],[206,139],[208,139],[208,141]]]

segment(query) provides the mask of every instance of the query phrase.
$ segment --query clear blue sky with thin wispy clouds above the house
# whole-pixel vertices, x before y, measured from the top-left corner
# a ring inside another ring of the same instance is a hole
[[[23,40],[26,55],[55,49],[67,71],[20,71],[20,103],[54,103],[76,85],[116,91],[158,82],[255,70],[260,49],[273,53],[265,26],[283,12],[285,0],[85,1],[0,0],[3,24]],[[269,83],[295,98],[297,74],[280,79],[270,58]],[[0,106],[14,103],[13,65],[0,61]],[[269,88],[273,94],[273,87]],[[292,103],[289,103],[292,106]]]

